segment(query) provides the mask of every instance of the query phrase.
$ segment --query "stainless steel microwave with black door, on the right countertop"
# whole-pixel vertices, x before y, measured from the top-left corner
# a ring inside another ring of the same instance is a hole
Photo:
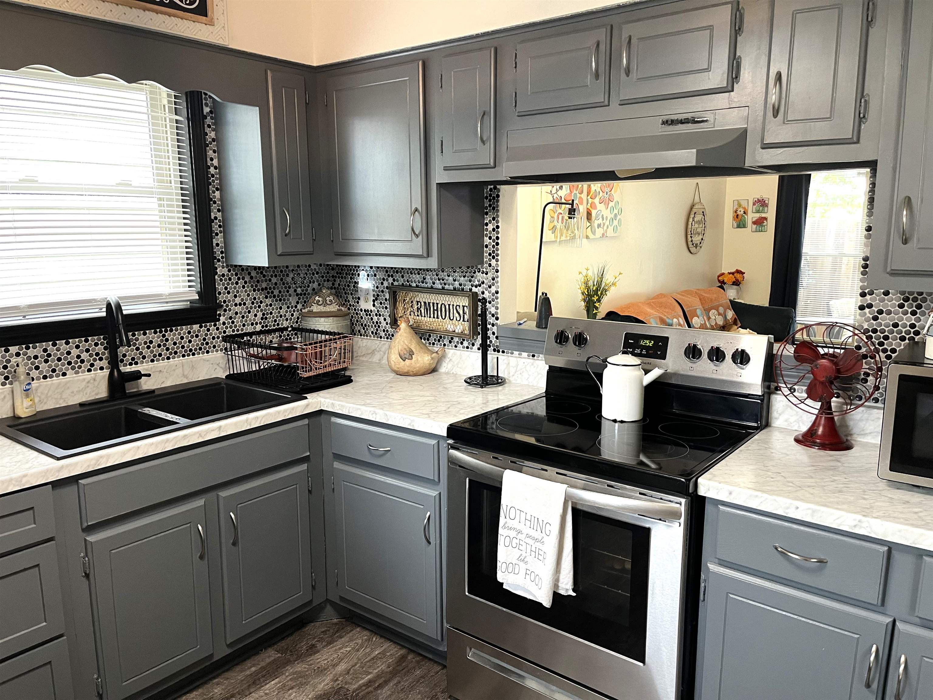
[[[890,365],[878,475],[933,486],[933,368]]]

